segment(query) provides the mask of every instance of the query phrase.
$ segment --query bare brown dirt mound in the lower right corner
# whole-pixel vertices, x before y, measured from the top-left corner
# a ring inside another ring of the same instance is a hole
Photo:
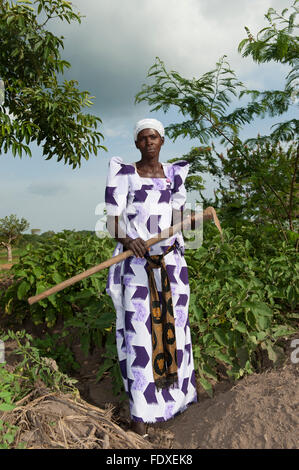
[[[245,377],[163,424],[175,448],[295,449],[299,443],[299,364]]]

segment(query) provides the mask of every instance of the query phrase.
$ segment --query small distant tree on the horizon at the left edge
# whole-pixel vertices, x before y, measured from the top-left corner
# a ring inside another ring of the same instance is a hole
[[[12,262],[12,245],[29,228],[29,223],[23,217],[18,219],[15,214],[0,219],[0,244],[7,250],[7,261]]]

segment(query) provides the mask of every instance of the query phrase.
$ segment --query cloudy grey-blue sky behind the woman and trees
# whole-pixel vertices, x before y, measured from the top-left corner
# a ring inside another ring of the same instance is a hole
[[[72,67],[66,79],[76,79],[82,90],[95,96],[88,112],[99,116],[99,129],[108,152],[91,155],[80,169],[72,170],[53,158],[43,160],[42,151],[31,147],[33,156],[0,155],[0,218],[11,213],[25,217],[30,229],[94,230],[96,207],[103,203],[109,159],[119,155],[126,162],[138,161],[132,130],[135,122],[155,117],[165,125],[179,122],[175,111],[150,113],[134,97],[146,82],[146,74],[159,56],[169,70],[198,77],[227,55],[231,68],[248,88],[283,86],[287,70],[279,64],[256,65],[237,52],[245,37],[244,26],[257,33],[266,26],[269,7],[278,11],[290,0],[75,0],[81,25],[52,20],[49,29],[64,36],[63,58]],[[269,130],[268,120],[244,130],[244,137]],[[181,157],[196,142],[166,141],[161,161]],[[206,178],[206,194],[213,181]]]

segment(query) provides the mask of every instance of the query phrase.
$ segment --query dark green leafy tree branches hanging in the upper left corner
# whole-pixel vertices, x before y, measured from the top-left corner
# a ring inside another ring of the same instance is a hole
[[[0,0],[0,152],[31,156],[29,144],[36,142],[46,160],[57,156],[75,168],[105,149],[101,119],[82,112],[94,97],[76,80],[58,81],[70,64],[61,58],[63,36],[46,29],[53,18],[81,23],[82,16],[65,0]]]

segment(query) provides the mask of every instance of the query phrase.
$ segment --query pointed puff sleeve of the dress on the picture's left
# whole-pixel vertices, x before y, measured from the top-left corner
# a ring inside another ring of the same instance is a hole
[[[121,157],[112,157],[106,180],[105,204],[107,215],[121,215],[127,205],[128,176],[123,171]]]

